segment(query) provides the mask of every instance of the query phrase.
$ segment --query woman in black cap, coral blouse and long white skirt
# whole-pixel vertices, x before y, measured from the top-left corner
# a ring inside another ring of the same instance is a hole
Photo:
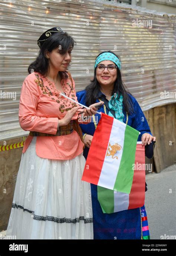
[[[66,71],[74,39],[52,28],[23,82],[19,122],[30,131],[17,175],[7,235],[16,239],[93,239],[90,184],[81,181],[84,143],[75,83]],[[84,110],[83,116],[97,108]]]

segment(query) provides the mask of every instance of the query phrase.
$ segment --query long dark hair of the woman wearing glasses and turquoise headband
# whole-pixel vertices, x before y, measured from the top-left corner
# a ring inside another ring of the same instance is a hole
[[[120,60],[120,57],[117,56],[114,52],[112,52],[112,51],[104,51],[104,52],[110,52],[110,53],[114,54]],[[104,52],[101,52],[100,54],[102,54]],[[100,54],[98,54],[98,56]],[[86,90],[86,105],[90,106],[91,104],[95,103],[95,101],[98,99],[98,91],[100,90],[100,84],[98,83],[97,78],[96,78],[96,68],[94,71],[94,78],[93,78],[93,80],[91,80],[91,83],[88,84],[88,86],[86,86],[85,90]],[[128,94],[131,95],[131,93],[128,92],[126,85],[123,83],[122,78],[121,78],[121,72],[118,67],[117,67],[117,79],[114,82],[114,89],[113,89],[112,95],[114,95],[115,93],[117,93],[117,95],[118,95],[117,99],[119,99],[120,93],[123,95],[123,104],[124,104],[125,111],[128,114],[133,112],[133,104],[130,99],[130,96],[128,95]],[[111,104],[113,104],[114,101],[115,101],[115,97],[113,97],[111,99]]]

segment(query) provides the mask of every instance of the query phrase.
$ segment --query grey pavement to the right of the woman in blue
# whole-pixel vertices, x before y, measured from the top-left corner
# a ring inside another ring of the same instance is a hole
[[[150,239],[176,239],[176,165],[146,175]]]

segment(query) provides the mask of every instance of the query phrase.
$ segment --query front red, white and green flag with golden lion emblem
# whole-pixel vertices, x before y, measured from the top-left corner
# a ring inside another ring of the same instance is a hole
[[[82,180],[130,193],[139,132],[104,113],[95,130]]]

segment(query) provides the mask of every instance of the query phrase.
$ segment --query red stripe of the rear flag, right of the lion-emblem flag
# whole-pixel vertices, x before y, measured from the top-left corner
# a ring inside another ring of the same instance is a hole
[[[140,167],[139,164],[145,164],[145,148],[142,146],[142,144],[137,144],[135,164],[138,169]],[[138,208],[144,205],[146,172],[143,169],[134,169],[133,184],[129,194],[128,209]]]

